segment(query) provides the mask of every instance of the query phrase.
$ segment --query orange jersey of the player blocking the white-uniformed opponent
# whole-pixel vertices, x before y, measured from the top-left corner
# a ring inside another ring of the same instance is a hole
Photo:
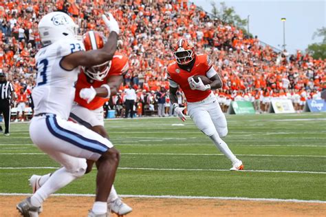
[[[99,96],[95,96],[95,98],[90,102],[87,103],[85,99],[81,99],[79,96],[79,92],[83,88],[89,88],[93,86],[94,88],[100,87],[103,84],[107,84],[107,79],[109,79],[110,76],[117,76],[117,75],[123,75],[127,72],[129,68],[128,65],[128,58],[127,56],[123,56],[122,54],[116,52],[116,54],[113,56],[113,59],[111,60],[111,68],[109,70],[109,73],[103,79],[103,81],[95,81],[91,80],[87,77],[87,75],[84,72],[80,72],[78,75],[78,80],[76,83],[76,93],[75,93],[75,102],[78,103],[80,106],[86,107],[89,110],[96,110],[99,107],[102,107],[109,99],[105,99]]]

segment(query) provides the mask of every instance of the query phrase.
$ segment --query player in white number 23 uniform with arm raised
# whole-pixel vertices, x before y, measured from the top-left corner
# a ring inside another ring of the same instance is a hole
[[[33,143],[63,167],[56,170],[31,197],[17,205],[23,216],[39,216],[43,201],[83,176],[86,159],[96,161],[96,198],[88,216],[106,216],[120,154],[111,142],[96,132],[67,121],[75,96],[74,84],[80,66],[90,67],[110,61],[117,48],[120,32],[117,21],[109,14],[102,19],[110,30],[102,49],[85,51],[77,41],[77,25],[63,12],[50,12],[39,22],[43,48],[36,54],[37,79],[32,91],[35,112],[30,123]]]

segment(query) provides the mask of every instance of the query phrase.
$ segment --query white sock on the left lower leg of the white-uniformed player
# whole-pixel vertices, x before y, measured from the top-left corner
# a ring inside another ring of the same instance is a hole
[[[48,176],[49,174],[45,175]],[[43,177],[43,176],[42,176]],[[46,177],[45,177],[46,178]],[[74,176],[72,173],[67,172],[65,167],[62,167],[52,176],[49,176],[46,181],[44,181],[44,185],[38,189],[35,194],[31,197],[31,203],[34,207],[40,207],[43,201],[50,196],[50,194],[53,194],[58,189],[61,189],[62,187],[65,187],[69,183],[71,183],[73,180],[75,180],[77,176]]]

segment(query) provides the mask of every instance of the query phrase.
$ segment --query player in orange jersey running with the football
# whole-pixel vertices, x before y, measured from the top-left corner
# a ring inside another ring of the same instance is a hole
[[[195,54],[195,46],[188,39],[180,39],[174,48],[175,61],[168,66],[170,83],[170,100],[173,110],[182,121],[186,120],[183,114],[184,107],[177,103],[178,86],[183,90],[188,104],[188,114],[198,129],[208,136],[216,147],[232,162],[230,170],[242,170],[242,162],[231,152],[221,137],[228,134],[226,117],[216,96],[211,90],[222,87],[219,74],[215,71],[212,61],[206,54]],[[213,81],[204,85],[202,79],[196,82],[193,76],[207,76]]]

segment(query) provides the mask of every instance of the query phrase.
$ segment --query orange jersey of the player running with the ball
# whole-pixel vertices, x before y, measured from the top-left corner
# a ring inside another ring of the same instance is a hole
[[[189,103],[194,103],[205,99],[210,94],[211,90],[192,90],[188,83],[188,78],[195,75],[206,76],[206,72],[208,72],[211,67],[213,67],[213,63],[210,61],[208,55],[198,54],[196,55],[195,63],[190,72],[182,70],[174,61],[168,66],[167,76],[168,79],[174,81],[181,87],[187,101]]]

